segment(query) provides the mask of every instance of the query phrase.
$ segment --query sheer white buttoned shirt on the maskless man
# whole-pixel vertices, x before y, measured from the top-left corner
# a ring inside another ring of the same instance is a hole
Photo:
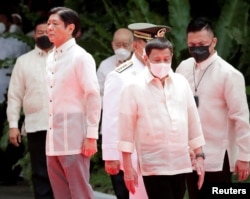
[[[47,60],[47,155],[80,154],[85,138],[98,138],[101,97],[93,57],[74,38]]]

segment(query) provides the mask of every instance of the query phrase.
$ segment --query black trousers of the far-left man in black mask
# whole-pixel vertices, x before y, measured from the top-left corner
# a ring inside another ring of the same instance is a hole
[[[27,138],[35,199],[53,199],[45,154],[46,131],[28,133]]]

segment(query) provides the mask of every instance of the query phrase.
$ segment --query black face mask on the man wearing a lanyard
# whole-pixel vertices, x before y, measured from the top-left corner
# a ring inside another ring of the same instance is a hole
[[[209,46],[192,46],[188,49],[189,54],[196,60],[197,63],[206,60],[210,55]]]

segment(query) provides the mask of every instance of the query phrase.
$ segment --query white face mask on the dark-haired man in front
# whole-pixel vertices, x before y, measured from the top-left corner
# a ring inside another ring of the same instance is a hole
[[[150,62],[150,71],[151,73],[160,79],[167,76],[171,69],[171,63],[151,63]]]

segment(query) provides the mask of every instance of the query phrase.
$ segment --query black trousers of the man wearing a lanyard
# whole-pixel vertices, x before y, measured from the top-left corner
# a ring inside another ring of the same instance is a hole
[[[232,182],[232,173],[230,172],[227,152],[225,153],[223,169],[217,172],[205,172],[205,179],[201,190],[197,188],[198,175],[196,171],[186,174],[189,199],[209,199],[206,189],[211,183],[230,183]]]

